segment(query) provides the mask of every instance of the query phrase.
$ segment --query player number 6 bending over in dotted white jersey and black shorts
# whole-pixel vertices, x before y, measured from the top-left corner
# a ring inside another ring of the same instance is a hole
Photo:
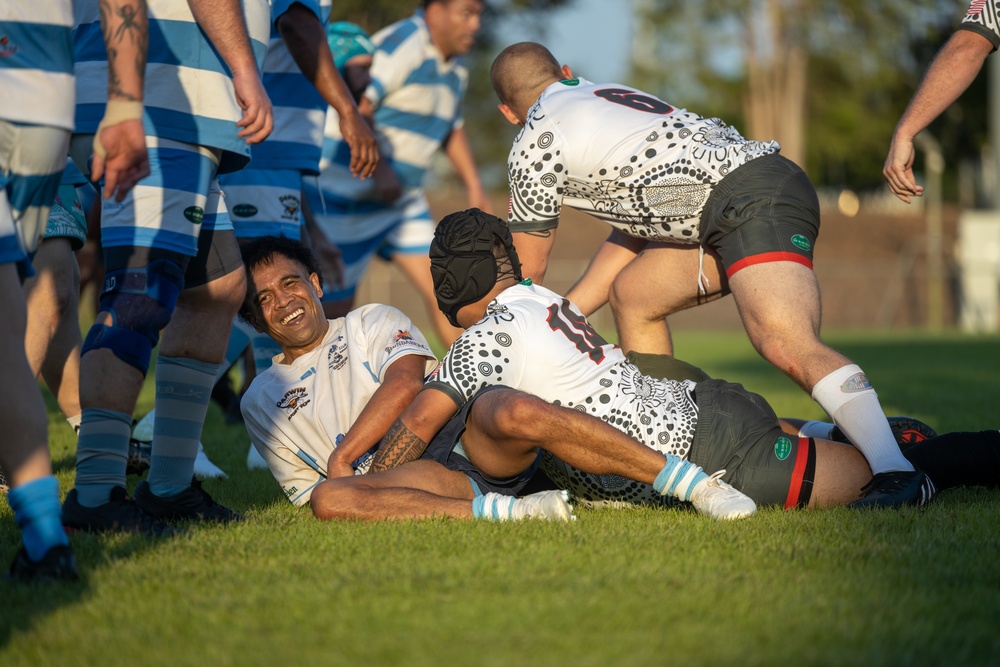
[[[855,506],[933,493],[902,455],[867,376],[819,335],[812,252],[819,205],[773,141],[751,141],[640,90],[575,78],[540,44],[493,63],[500,111],[521,127],[508,159],[510,225],[542,282],[563,205],[614,230],[567,297],[610,300],[626,351],[672,354],[665,317],[731,292],[754,347],[823,407],[874,476]]]

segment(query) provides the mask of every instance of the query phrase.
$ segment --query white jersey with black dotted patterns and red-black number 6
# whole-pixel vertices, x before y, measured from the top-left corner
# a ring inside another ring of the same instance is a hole
[[[552,229],[566,205],[629,236],[697,243],[713,186],[778,150],[635,88],[559,81],[528,111],[508,157],[511,231]]]

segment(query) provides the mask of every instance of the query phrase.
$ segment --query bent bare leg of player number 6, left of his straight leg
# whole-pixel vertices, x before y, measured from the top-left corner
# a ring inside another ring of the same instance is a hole
[[[699,262],[708,281],[705,294],[698,291]],[[673,354],[667,315],[728,293],[715,251],[706,250],[702,261],[698,246],[650,244],[611,285],[619,345],[626,352]]]

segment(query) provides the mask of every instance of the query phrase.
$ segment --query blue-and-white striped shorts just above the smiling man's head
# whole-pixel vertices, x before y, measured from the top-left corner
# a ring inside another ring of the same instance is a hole
[[[248,167],[219,181],[237,238],[301,238],[302,172]]]

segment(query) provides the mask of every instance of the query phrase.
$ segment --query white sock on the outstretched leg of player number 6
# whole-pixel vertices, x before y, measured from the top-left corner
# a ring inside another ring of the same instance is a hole
[[[878,395],[857,364],[838,368],[817,382],[812,397],[864,454],[873,474],[913,470],[896,444]]]

